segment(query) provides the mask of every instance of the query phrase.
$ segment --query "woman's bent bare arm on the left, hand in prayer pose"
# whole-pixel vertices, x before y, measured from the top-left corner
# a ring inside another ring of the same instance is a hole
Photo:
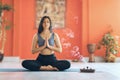
[[[38,47],[38,36],[37,36],[37,34],[35,34],[33,37],[33,41],[32,41],[32,53],[34,54],[34,53],[40,52],[45,47],[46,47],[46,43],[43,46]]]

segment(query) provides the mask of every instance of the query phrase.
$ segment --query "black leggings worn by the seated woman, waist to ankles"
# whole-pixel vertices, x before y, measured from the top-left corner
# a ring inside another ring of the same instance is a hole
[[[63,71],[70,68],[70,62],[67,60],[57,60],[54,54],[41,55],[39,54],[36,60],[24,60],[22,66],[31,71],[40,71],[40,66],[51,65]]]

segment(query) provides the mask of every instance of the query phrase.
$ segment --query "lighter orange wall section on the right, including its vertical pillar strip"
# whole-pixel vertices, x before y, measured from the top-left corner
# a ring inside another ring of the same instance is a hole
[[[98,43],[110,30],[108,26],[112,26],[114,35],[120,39],[120,0],[83,0],[82,3],[82,54],[88,56],[87,43]],[[104,55],[104,49],[95,52],[95,56]]]

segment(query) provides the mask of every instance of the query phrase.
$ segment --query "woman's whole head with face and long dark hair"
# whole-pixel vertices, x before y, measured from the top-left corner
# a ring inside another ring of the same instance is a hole
[[[44,29],[49,29],[50,32],[52,32],[52,22],[49,16],[44,16],[41,18],[39,27],[38,27],[38,33],[41,33]]]

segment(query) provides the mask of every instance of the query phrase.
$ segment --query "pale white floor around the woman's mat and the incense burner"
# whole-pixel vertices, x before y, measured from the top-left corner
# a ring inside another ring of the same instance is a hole
[[[120,80],[120,63],[82,63],[71,62],[70,69],[94,68],[95,73],[71,72],[30,72],[7,71],[7,69],[24,69],[21,62],[0,63],[0,80]],[[6,71],[2,71],[6,70]]]

